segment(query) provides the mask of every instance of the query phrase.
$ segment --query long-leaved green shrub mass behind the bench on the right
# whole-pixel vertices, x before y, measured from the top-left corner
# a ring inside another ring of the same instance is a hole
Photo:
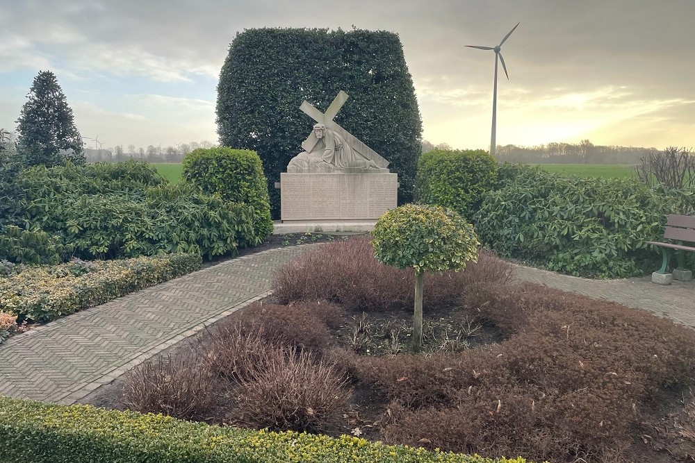
[[[575,276],[651,269],[641,264],[657,257],[646,242],[662,237],[667,214],[687,214],[695,204],[692,192],[632,179],[562,177],[521,165],[499,173],[500,189],[484,196],[473,217],[484,244]]]

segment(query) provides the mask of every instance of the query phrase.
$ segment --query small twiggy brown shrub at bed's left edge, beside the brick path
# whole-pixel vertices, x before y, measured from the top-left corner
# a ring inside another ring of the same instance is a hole
[[[260,324],[247,319],[225,319],[208,331],[206,364],[216,376],[232,381],[250,378],[263,369],[268,349],[280,346],[281,339]]]

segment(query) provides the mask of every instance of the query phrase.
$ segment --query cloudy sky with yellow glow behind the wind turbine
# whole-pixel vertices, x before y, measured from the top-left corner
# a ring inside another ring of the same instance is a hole
[[[104,146],[217,142],[236,33],[354,24],[400,35],[426,140],[488,149],[494,53],[464,45],[521,22],[502,47],[498,144],[695,146],[694,18],[695,0],[0,0],[0,128],[51,70]]]

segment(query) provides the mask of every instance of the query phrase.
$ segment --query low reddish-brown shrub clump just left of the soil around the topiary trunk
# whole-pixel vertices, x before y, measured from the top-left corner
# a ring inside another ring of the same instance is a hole
[[[271,338],[283,344],[320,351],[332,343],[328,326],[336,326],[343,313],[340,306],[325,301],[257,303],[246,310],[243,320],[263,326]]]

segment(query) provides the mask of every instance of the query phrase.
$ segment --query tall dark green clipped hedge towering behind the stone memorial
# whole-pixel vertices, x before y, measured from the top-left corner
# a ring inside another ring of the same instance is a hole
[[[350,99],[335,121],[391,162],[399,202],[411,201],[422,122],[398,35],[259,28],[231,43],[218,85],[220,144],[259,153],[274,217],[273,185],[314,124],[300,111],[302,101],[325,111],[340,90]]]

